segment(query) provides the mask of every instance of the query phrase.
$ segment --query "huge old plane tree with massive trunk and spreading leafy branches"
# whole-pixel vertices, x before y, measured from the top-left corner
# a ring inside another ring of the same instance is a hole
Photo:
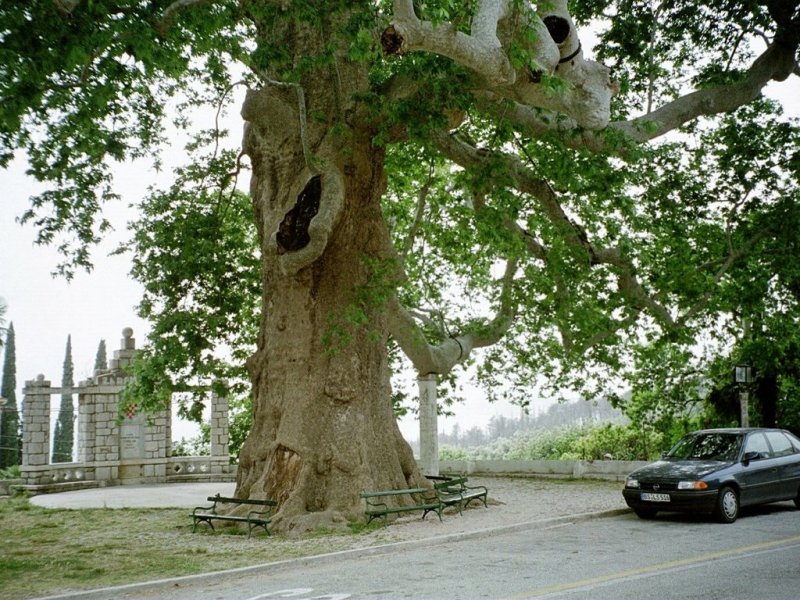
[[[23,219],[69,273],[107,226],[113,161],[170,142],[168,99],[247,86],[230,171],[252,170],[261,311],[236,493],[313,527],[356,514],[362,489],[423,483],[390,342],[420,375],[484,348],[481,376],[513,392],[693,335],[795,210],[796,128],[762,91],[797,73],[798,4],[4,3],[0,156],[24,148],[52,184]],[[144,215],[186,215],[180,239],[216,269],[219,310],[176,339],[230,326],[252,276],[209,243],[237,206],[223,156]],[[177,307],[201,280],[173,282]]]

